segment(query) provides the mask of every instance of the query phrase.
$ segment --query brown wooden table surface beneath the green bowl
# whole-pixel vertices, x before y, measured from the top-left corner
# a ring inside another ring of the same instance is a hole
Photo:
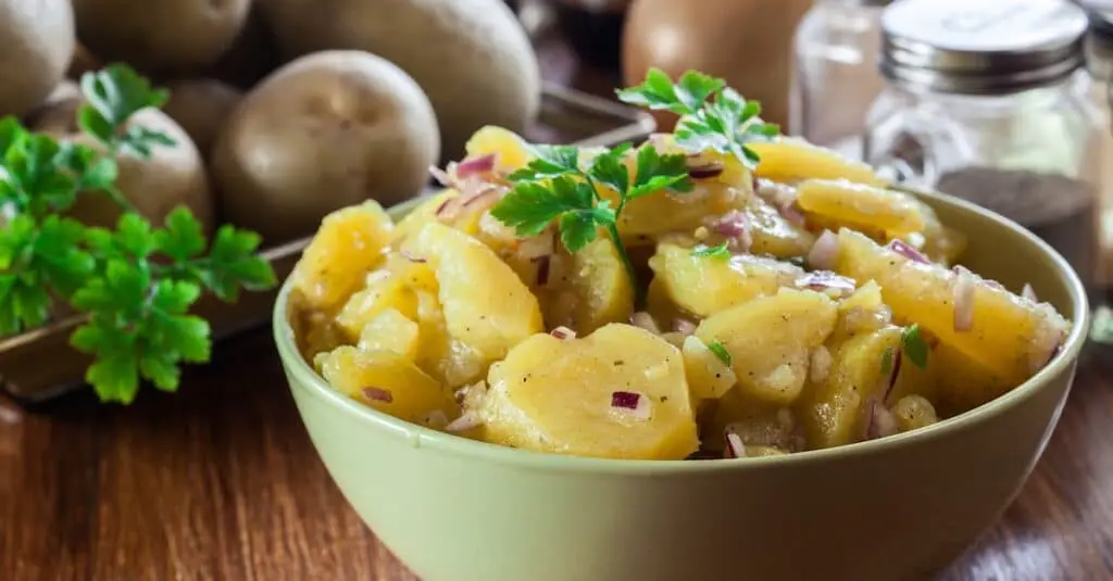
[[[543,57],[550,79],[615,82],[560,45]],[[329,481],[259,329],[223,343],[180,393],[130,407],[0,396],[0,579],[416,578]],[[1087,354],[1023,493],[942,579],[1113,579],[1113,352]]]

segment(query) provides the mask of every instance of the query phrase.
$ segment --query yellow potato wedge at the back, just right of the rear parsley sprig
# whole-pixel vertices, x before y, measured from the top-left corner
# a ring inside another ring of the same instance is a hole
[[[760,158],[758,177],[774,181],[800,179],[848,179],[855,184],[884,186],[886,181],[874,168],[861,161],[843,157],[825,147],[817,147],[795,137],[772,141],[746,144]]]

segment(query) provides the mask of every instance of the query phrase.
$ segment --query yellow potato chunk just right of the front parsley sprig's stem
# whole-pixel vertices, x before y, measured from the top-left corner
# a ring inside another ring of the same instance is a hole
[[[692,256],[690,248],[663,243],[650,258],[649,267],[664,297],[700,317],[775,295],[780,287],[791,285],[804,275],[795,265],[769,258]]]

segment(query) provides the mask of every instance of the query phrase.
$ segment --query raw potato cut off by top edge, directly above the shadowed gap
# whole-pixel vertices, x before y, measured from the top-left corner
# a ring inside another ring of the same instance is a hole
[[[141,70],[197,70],[239,33],[252,0],[72,0],[77,33],[98,57]]]

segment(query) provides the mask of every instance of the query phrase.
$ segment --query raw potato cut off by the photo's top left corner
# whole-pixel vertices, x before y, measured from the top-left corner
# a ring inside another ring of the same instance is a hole
[[[73,55],[69,0],[0,0],[0,117],[22,117],[66,76]]]

